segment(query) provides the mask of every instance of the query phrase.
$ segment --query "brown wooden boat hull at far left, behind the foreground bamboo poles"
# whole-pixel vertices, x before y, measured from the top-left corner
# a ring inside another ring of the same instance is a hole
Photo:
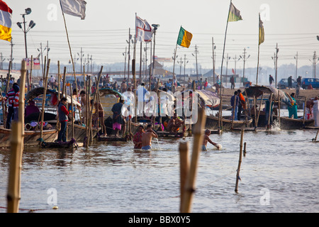
[[[57,140],[56,129],[43,130],[43,141],[53,142]],[[23,145],[37,146],[40,143],[40,130],[37,131],[24,131]],[[0,148],[9,148],[10,145],[11,129],[0,127]]]

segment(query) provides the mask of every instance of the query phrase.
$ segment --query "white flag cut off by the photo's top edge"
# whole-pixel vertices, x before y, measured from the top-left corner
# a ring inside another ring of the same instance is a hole
[[[60,0],[63,13],[67,13],[72,16],[79,16],[81,20],[85,18],[85,6],[84,0]]]

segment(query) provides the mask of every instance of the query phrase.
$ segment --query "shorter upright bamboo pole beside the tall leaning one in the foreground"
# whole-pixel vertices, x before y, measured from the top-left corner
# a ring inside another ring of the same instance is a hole
[[[179,163],[180,163],[180,192],[181,192],[181,208],[184,206],[183,198],[185,194],[185,183],[189,172],[189,142],[179,143]]]

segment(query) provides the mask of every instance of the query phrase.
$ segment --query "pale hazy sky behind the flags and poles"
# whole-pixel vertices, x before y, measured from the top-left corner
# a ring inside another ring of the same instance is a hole
[[[65,25],[58,0],[5,0],[13,10],[12,36],[14,62],[25,56],[23,32],[16,25],[22,22],[21,14],[28,7],[32,13],[26,21],[33,20],[36,26],[27,34],[28,56],[37,56],[37,48],[43,43],[50,46],[51,62],[60,60],[69,62],[69,48],[65,35]],[[216,44],[216,67],[220,67],[225,26],[228,18],[230,1],[228,0],[86,0],[86,18],[65,15],[69,31],[72,54],[76,55],[83,48],[85,57],[89,54],[97,64],[124,62],[123,52],[128,48],[128,31],[135,34],[135,13],[150,24],[158,23],[155,45],[157,57],[171,58],[176,47],[180,26],[193,34],[189,48],[177,49],[177,55],[194,67],[195,57],[191,55],[198,47],[198,65],[212,67],[212,38]],[[276,43],[279,47],[278,64],[296,64],[294,56],[298,52],[298,65],[312,65],[313,52],[319,55],[318,0],[233,0],[235,7],[241,11],[243,20],[228,24],[225,56],[233,68],[235,60],[246,48],[250,55],[246,67],[257,66],[258,47],[258,13],[264,21],[265,41],[260,45],[260,65],[273,67]],[[27,25],[28,25],[27,23]],[[143,48],[145,44],[143,43]],[[148,45],[150,47],[150,45]],[[10,57],[9,42],[0,40],[0,50],[7,59]],[[46,54],[46,52],[45,52]],[[138,43],[137,62],[140,61],[140,43]],[[143,56],[145,52],[143,52]],[[150,51],[147,52],[150,57]],[[77,61],[79,64],[79,60]],[[164,63],[169,65],[170,63]],[[225,66],[225,62],[224,62]],[[178,67],[178,66],[177,66]],[[237,61],[242,67],[242,60]]]

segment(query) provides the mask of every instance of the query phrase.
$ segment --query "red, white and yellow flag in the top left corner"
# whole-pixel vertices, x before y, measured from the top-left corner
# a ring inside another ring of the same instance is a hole
[[[12,10],[0,0],[0,40],[11,42],[11,16]]]

